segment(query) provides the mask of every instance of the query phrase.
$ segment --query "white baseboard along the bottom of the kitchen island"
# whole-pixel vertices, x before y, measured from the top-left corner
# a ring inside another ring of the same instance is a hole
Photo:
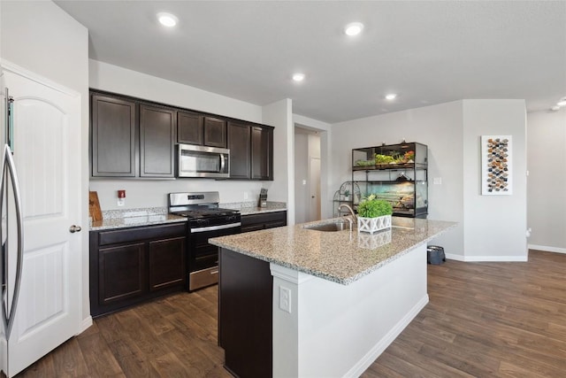
[[[399,336],[403,329],[409,326],[409,323],[415,319],[418,312],[424,308],[424,306],[428,303],[428,294],[421,298],[408,313],[405,315],[402,320],[399,320],[397,324],[395,324],[394,328],[392,328],[389,332],[387,332],[386,336],[384,336],[378,343],[376,343],[370,351],[360,359],[355,366],[346,373],[345,377],[359,377],[367,370],[368,367],[371,366],[373,361],[378,359],[379,355],[383,353],[387,347],[395,341],[397,336]]]

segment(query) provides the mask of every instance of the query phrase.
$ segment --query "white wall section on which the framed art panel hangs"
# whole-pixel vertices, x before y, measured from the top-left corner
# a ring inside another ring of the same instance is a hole
[[[466,260],[526,260],[524,100],[465,100],[463,120],[463,214]],[[481,195],[480,135],[512,136],[512,195]]]

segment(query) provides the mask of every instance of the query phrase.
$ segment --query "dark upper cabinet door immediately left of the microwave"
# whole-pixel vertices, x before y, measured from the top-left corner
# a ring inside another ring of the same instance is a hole
[[[140,176],[174,177],[176,114],[140,105]]]

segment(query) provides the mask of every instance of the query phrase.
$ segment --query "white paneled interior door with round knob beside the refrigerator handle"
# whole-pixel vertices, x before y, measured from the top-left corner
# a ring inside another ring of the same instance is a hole
[[[14,98],[14,159],[24,219],[24,260],[8,375],[80,331],[80,96],[6,70]],[[85,230],[87,232],[88,230]]]

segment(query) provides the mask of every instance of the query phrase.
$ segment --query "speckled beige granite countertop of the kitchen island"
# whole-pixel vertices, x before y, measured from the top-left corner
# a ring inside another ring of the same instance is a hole
[[[457,223],[394,217],[394,227],[374,235],[348,229],[304,228],[338,219],[212,238],[210,243],[344,285],[430,241]]]

